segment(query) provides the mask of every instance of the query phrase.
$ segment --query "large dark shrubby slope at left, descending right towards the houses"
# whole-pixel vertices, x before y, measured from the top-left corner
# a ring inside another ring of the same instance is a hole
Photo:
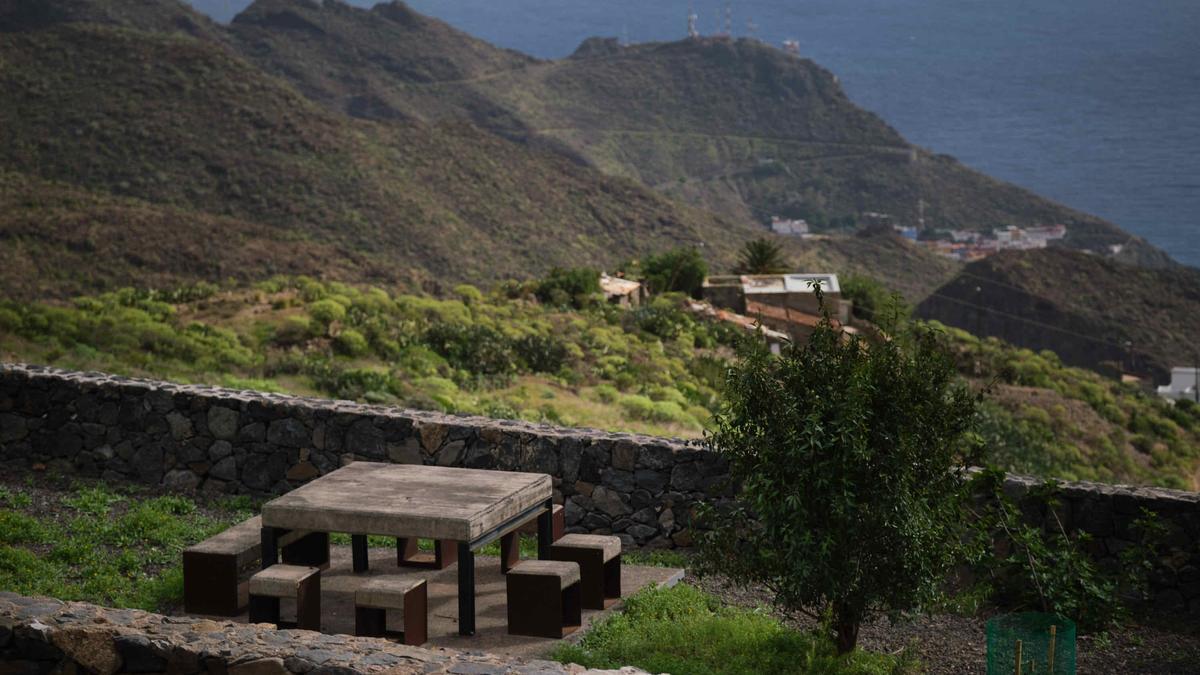
[[[24,204],[0,219],[6,239],[28,239],[31,222],[70,229],[115,199],[170,214],[155,217],[175,221],[181,240],[232,228],[302,251],[281,253],[275,269],[319,269],[298,261],[323,256],[334,276],[450,282],[608,264],[697,241],[721,263],[749,235],[746,226],[473,126],[346,118],[224,46],[181,34],[92,23],[10,31],[0,41],[0,169],[22,185],[5,197]],[[62,185],[92,193],[73,202],[80,211],[62,210]],[[94,280],[136,274],[138,264],[109,244],[95,244],[90,267],[107,271]],[[239,244],[216,237],[214,245]],[[48,268],[74,259],[52,246],[43,253]],[[212,277],[215,258],[241,259],[203,257],[178,277]],[[238,275],[269,273],[239,267]]]

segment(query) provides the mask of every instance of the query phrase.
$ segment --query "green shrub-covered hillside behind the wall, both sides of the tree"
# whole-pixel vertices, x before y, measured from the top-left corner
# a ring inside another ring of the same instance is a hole
[[[444,299],[275,277],[70,303],[0,299],[0,360],[698,437],[739,333],[680,298],[640,310],[536,301],[532,283]],[[1200,407],[944,331],[986,389],[979,435],[998,466],[1039,476],[1200,486]]]

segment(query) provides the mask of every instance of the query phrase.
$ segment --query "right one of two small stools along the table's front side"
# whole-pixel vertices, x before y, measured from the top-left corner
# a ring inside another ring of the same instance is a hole
[[[376,577],[354,591],[354,634],[395,637],[406,645],[428,640],[428,584],[424,579]],[[403,613],[403,631],[388,631],[388,611]]]

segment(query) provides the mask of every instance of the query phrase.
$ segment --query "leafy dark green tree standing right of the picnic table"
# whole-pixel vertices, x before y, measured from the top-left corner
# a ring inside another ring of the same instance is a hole
[[[704,509],[701,567],[828,613],[852,651],[869,613],[920,607],[960,557],[978,396],[928,330],[866,344],[826,316],[778,358],[742,351],[712,436],[739,494]]]

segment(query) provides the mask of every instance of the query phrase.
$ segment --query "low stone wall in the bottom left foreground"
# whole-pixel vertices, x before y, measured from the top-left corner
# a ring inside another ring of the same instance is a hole
[[[0,593],[0,671],[178,675],[635,675],[548,661],[421,649],[378,638],[275,631]]]

